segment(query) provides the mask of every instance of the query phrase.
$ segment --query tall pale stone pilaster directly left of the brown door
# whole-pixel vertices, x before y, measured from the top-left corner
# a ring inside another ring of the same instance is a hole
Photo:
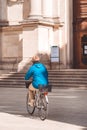
[[[73,65],[73,0],[65,0],[65,37],[67,43],[67,67]]]

